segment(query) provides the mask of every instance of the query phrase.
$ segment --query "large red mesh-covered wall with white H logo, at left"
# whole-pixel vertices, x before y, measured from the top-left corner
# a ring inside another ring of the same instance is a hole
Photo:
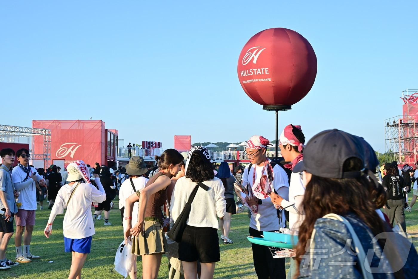
[[[75,160],[86,164],[106,164],[105,130],[102,120],[33,120],[33,128],[51,130],[51,162],[65,160],[65,165]],[[43,136],[33,137],[35,154],[43,154]]]

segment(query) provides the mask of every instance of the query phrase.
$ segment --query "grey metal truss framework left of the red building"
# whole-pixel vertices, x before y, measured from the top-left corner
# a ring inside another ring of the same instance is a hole
[[[0,142],[16,143],[33,136],[43,136],[43,154],[33,154],[31,160],[43,160],[46,169],[51,164],[51,130],[0,124]]]

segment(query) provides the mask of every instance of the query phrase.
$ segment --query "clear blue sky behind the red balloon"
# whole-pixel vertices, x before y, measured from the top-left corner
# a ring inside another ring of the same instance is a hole
[[[155,3],[153,3],[155,2]],[[1,1],[0,124],[102,119],[125,143],[275,137],[237,60],[267,28],[313,46],[310,93],[279,114],[307,138],[338,128],[384,151],[384,120],[418,89],[417,1]],[[11,105],[11,106],[9,106]]]

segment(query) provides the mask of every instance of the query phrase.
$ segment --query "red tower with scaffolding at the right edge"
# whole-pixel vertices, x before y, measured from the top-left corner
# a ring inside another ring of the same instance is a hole
[[[401,99],[402,115],[385,120],[385,152],[390,160],[413,166],[418,160],[418,90],[402,91]]]

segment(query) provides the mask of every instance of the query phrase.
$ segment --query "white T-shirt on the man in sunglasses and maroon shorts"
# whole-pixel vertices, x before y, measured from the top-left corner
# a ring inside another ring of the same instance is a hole
[[[27,181],[28,179],[31,179],[32,173],[36,172],[35,168],[29,167],[31,169],[31,172],[29,173],[29,176],[22,171],[19,166],[16,166],[13,168],[12,171],[12,181],[14,183],[22,183],[24,181]],[[27,178],[26,178],[27,176]],[[42,176],[39,175],[39,173],[36,173],[36,180],[40,181],[43,179]],[[33,183],[23,189],[21,189],[19,192],[19,197],[16,200],[16,203],[22,203],[18,209],[25,209],[25,210],[36,210],[36,183],[33,181]]]

